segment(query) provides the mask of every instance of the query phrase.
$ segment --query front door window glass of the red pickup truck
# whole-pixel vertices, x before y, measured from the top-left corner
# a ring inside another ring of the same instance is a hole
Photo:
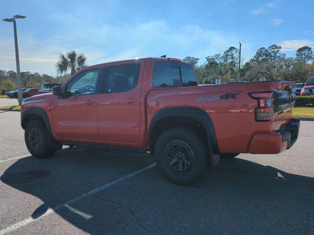
[[[99,70],[84,71],[67,85],[67,94],[71,97],[81,94],[94,94]]]

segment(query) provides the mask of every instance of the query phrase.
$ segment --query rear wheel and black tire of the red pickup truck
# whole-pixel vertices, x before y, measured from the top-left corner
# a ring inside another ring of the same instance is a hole
[[[177,185],[191,185],[205,172],[209,151],[198,133],[175,127],[158,138],[155,156],[166,179]]]

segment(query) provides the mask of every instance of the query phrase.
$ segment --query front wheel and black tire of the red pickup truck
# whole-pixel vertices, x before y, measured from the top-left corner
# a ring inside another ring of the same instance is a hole
[[[38,120],[27,123],[24,138],[28,151],[35,158],[47,158],[56,151],[50,148],[46,126]]]

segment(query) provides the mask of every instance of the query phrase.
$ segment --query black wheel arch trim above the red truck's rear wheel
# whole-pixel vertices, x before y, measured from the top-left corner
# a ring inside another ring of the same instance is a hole
[[[150,122],[148,131],[148,143],[150,148],[153,141],[154,127],[157,124],[157,122],[162,118],[175,118],[175,117],[194,118],[198,120],[206,130],[207,136],[209,137],[211,143],[213,153],[220,154],[216,138],[216,132],[211,118],[204,110],[195,107],[164,108],[157,111]]]

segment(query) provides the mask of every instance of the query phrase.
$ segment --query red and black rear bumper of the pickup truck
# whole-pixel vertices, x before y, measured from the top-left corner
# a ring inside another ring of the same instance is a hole
[[[254,135],[249,153],[277,154],[289,149],[298,139],[300,120],[293,118],[286,126],[277,132]]]

